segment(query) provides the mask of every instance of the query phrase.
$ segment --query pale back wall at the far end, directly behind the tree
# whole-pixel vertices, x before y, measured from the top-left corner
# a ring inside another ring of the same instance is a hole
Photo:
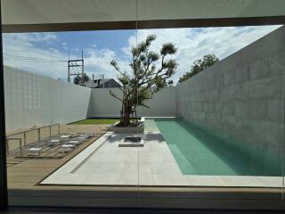
[[[118,96],[122,93],[119,89],[112,88],[112,91]],[[172,117],[176,113],[175,102],[175,86],[167,86],[159,93],[153,96],[152,100],[147,101],[150,109],[138,108],[138,116],[157,116],[157,117]],[[88,112],[88,117],[119,117],[121,103],[110,95],[109,88],[94,88],[92,89],[91,105]]]

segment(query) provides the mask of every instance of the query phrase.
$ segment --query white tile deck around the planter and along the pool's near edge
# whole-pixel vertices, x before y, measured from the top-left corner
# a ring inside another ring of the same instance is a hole
[[[129,134],[126,134],[129,136]],[[143,147],[118,147],[125,134],[106,133],[45,178],[49,185],[199,185],[281,187],[281,177],[183,175],[158,128]]]

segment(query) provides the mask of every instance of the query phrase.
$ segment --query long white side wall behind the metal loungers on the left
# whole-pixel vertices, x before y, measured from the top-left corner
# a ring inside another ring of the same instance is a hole
[[[6,129],[85,119],[91,89],[4,66]]]

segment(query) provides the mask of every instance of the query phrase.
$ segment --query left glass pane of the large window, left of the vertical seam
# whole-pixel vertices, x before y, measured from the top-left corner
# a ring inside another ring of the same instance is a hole
[[[31,3],[38,16],[49,7],[39,2]],[[78,6],[73,3],[71,7]],[[62,4],[66,6],[60,2],[58,8]],[[122,1],[116,11],[124,4],[134,20],[134,1]],[[77,7],[83,10],[77,12],[81,21],[88,21],[88,11],[95,7],[94,21],[118,21],[122,14],[111,12],[114,6],[90,1],[89,8]],[[138,152],[125,146],[126,137],[139,131],[133,127],[136,93],[127,115],[133,132],[121,131],[117,124],[123,122],[121,77],[125,70],[132,74],[128,39],[135,29],[126,26],[3,34],[10,205],[138,206]],[[45,26],[35,31],[41,28]],[[53,193],[61,200],[51,200]]]

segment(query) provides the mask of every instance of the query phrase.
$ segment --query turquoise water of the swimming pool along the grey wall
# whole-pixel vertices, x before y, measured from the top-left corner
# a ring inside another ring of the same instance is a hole
[[[236,149],[230,140],[210,135],[184,119],[146,120],[146,128],[155,124],[184,175],[281,176],[279,170]]]

